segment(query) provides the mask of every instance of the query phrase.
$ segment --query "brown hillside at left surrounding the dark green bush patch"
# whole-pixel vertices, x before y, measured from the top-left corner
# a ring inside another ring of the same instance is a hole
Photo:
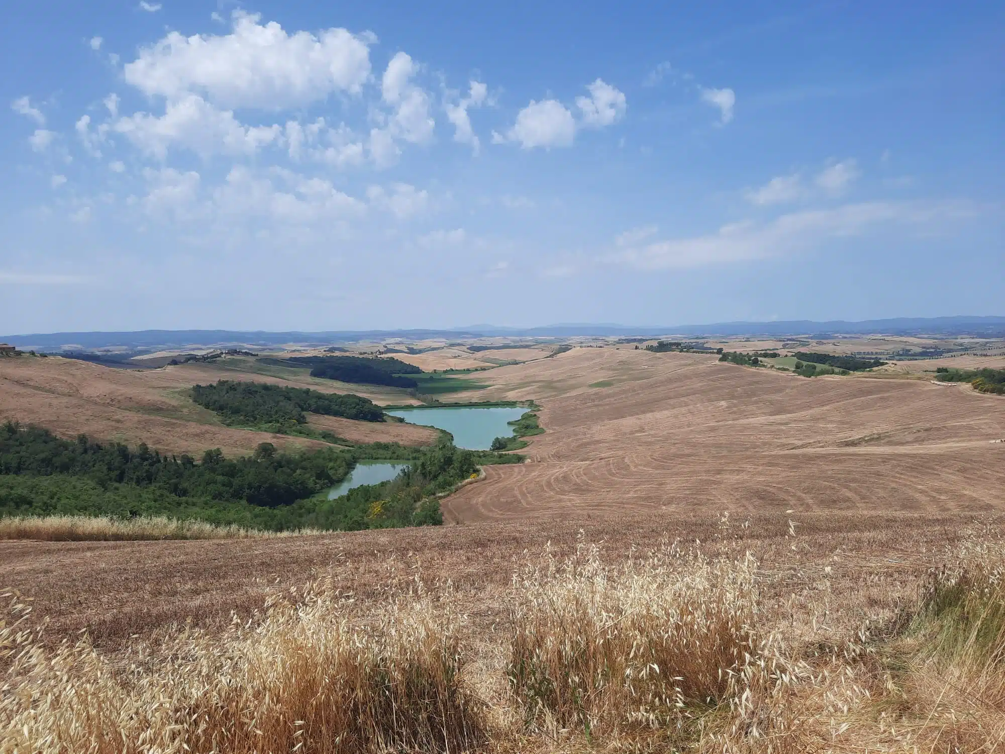
[[[284,371],[300,377],[294,370]],[[219,379],[311,387],[323,392],[352,391],[372,399],[388,400],[391,395],[312,378],[284,380],[216,364],[190,363],[136,371],[73,359],[25,356],[0,359],[0,421],[37,423],[64,437],[85,433],[134,445],[146,442],[152,448],[173,453],[200,454],[207,448],[219,447],[225,454],[239,454],[253,450],[262,441],[279,447],[324,446],[311,439],[223,426],[212,411],[196,405],[184,394],[192,385]],[[394,398],[395,402],[412,402],[403,393]],[[332,431],[349,439],[366,436],[368,441],[415,443],[425,442],[428,435],[428,430],[402,429],[398,424],[369,424],[351,421]]]

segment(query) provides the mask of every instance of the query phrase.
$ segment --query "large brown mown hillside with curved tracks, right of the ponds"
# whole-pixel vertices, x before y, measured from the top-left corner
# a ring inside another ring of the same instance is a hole
[[[1005,399],[815,378],[714,356],[576,349],[493,370],[471,399],[538,398],[530,462],[489,466],[452,522],[625,511],[1005,509]],[[608,381],[609,387],[590,387]]]

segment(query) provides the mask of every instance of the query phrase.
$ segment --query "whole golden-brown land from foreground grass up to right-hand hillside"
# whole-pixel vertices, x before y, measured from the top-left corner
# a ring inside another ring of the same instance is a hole
[[[0,752],[1005,751],[1005,400],[624,349],[477,377],[547,431],[452,525],[0,541]]]

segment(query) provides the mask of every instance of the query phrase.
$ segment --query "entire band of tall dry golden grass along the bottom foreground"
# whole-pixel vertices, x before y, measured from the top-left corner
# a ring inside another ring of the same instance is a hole
[[[910,571],[800,526],[773,540],[790,564],[724,517],[699,549],[525,553],[475,593],[384,560],[369,596],[332,576],[112,652],[24,619],[0,636],[0,751],[1005,750],[1000,524]]]

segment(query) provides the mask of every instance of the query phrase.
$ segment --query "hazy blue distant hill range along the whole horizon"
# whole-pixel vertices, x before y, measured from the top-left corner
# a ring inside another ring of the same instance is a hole
[[[0,342],[21,349],[58,351],[128,348],[135,350],[184,349],[197,346],[245,345],[256,347],[296,343],[329,346],[389,338],[422,340],[446,338],[463,340],[477,337],[575,338],[587,336],[631,337],[686,335],[980,335],[1005,337],[1005,317],[899,317],[863,322],[721,322],[713,325],[632,326],[616,324],[559,324],[535,328],[508,328],[471,325],[450,330],[342,330],[320,333],[265,332],[241,330],[142,330],[117,333],[48,333],[0,336]]]

